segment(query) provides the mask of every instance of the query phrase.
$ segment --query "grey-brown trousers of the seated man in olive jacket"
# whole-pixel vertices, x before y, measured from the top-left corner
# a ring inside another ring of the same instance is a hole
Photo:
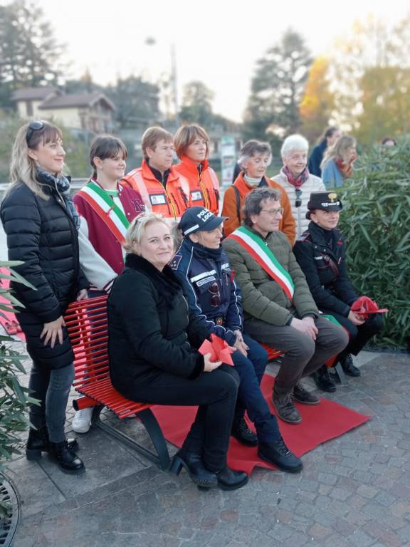
[[[280,350],[282,365],[275,380],[275,389],[290,393],[304,376],[315,372],[333,355],[338,355],[348,343],[345,329],[331,323],[328,319],[317,318],[319,330],[316,340],[300,333],[293,327],[270,325],[259,319],[246,321],[246,332],[261,343]]]

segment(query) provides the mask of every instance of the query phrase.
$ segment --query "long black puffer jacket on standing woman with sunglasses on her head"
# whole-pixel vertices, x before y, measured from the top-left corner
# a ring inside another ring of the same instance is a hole
[[[27,350],[40,366],[63,368],[73,363],[65,329],[63,344],[51,348],[40,339],[44,323],[55,321],[75,300],[88,281],[80,269],[78,234],[57,190],[44,186],[48,199],[19,184],[1,204],[1,222],[7,235],[9,260],[23,261],[15,270],[36,291],[13,283],[11,288],[25,308],[17,314],[26,335]]]

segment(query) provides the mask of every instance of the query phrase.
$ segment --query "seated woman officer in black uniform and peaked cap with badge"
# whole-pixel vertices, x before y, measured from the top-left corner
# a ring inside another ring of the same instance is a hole
[[[364,319],[351,309],[358,295],[347,275],[345,242],[337,229],[341,210],[342,202],[335,191],[310,194],[306,213],[310,224],[296,241],[293,252],[317,307],[334,316],[348,331],[349,344],[338,359],[347,375],[359,376],[360,370],[353,365],[352,354],[357,355],[367,341],[382,330],[383,321],[377,314]],[[314,377],[320,389],[335,391],[335,382],[326,366]]]

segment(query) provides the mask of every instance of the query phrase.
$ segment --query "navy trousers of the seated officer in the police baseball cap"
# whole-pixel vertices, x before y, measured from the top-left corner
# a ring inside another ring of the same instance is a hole
[[[238,350],[232,355],[235,369],[241,378],[236,407],[238,412],[248,411],[249,419],[255,424],[260,442],[275,442],[280,439],[278,422],[270,413],[260,387],[268,364],[268,353],[246,334],[243,334],[243,341],[249,347],[248,357]]]

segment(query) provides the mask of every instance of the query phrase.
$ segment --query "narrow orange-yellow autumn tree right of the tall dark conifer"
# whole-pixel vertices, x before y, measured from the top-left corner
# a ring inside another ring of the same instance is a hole
[[[299,113],[302,132],[312,143],[329,125],[335,108],[335,93],[330,90],[329,59],[317,57],[310,67]]]

